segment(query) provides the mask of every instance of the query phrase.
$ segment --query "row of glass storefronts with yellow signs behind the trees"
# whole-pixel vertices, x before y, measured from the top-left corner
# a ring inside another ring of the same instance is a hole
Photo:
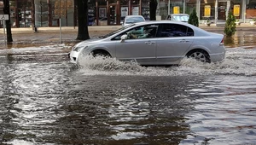
[[[78,0],[9,0],[13,27],[78,26]],[[126,15],[141,14],[149,20],[149,0],[88,0],[88,25],[120,25]],[[3,5],[3,0],[0,0]],[[236,19],[256,18],[256,0],[158,0],[158,20],[168,14],[190,14],[196,9],[202,23],[224,21],[231,11]],[[1,9],[0,9],[1,11]],[[1,12],[0,12],[1,13]]]

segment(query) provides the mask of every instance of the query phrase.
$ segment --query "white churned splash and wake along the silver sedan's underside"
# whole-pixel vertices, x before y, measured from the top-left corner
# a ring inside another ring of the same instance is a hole
[[[224,61],[203,63],[190,58],[183,59],[178,67],[142,67],[135,61],[118,61],[115,58],[84,56],[79,61],[80,71],[86,75],[256,75],[256,48],[227,49]]]

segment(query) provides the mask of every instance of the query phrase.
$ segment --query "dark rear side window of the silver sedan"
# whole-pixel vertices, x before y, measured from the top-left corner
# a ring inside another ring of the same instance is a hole
[[[161,38],[194,36],[194,31],[188,26],[179,24],[164,24],[160,32]]]

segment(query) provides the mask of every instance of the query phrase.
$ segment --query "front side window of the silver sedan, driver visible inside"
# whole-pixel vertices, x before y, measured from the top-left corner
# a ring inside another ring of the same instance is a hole
[[[137,26],[113,38],[113,40],[120,40],[122,35],[127,35],[127,39],[155,38],[157,29],[158,25]]]

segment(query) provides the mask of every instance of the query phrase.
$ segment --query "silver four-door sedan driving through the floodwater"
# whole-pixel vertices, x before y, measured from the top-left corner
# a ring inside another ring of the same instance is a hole
[[[216,62],[224,59],[224,35],[178,21],[145,21],[80,42],[69,57],[79,64],[79,59],[86,55],[137,61],[140,65],[174,65],[186,57]]]

